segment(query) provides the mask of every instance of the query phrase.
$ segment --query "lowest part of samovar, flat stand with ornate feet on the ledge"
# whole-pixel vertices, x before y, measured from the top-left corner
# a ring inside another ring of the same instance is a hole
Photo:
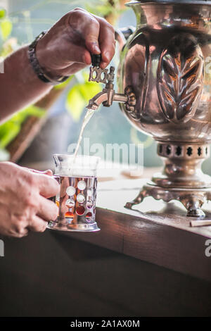
[[[131,209],[132,206],[141,204],[146,196],[153,196],[154,199],[162,199],[165,202],[180,201],[187,209],[187,216],[205,217],[201,207],[207,200],[211,200],[211,187],[204,189],[166,188],[148,182],[143,186],[139,195],[133,201],[127,202],[124,207]]]

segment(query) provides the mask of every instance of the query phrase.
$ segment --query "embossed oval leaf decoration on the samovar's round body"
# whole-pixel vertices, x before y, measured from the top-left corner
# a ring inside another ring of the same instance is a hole
[[[203,89],[204,59],[193,35],[171,39],[158,64],[158,98],[165,117],[186,123],[196,113]]]

